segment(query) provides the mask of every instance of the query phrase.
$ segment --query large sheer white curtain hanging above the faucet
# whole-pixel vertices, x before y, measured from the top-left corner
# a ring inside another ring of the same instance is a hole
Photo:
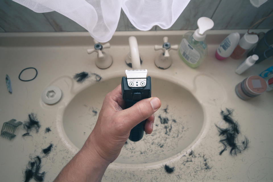
[[[119,21],[121,8],[139,30],[154,25],[167,29],[190,0],[13,0],[44,13],[57,11],[84,27],[99,42],[109,41]]]

